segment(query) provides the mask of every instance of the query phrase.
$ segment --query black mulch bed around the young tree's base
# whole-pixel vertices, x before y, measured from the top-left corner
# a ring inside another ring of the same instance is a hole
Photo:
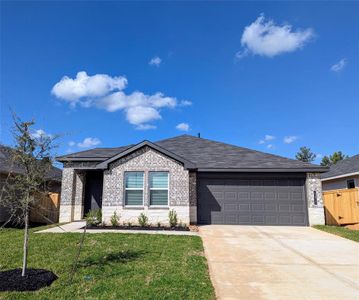
[[[0,272],[0,291],[36,291],[51,285],[57,276],[48,270],[27,269],[21,276],[21,269]]]

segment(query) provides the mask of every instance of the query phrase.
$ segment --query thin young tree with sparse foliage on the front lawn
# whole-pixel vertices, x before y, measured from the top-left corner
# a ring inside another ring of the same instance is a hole
[[[34,121],[22,122],[14,116],[11,172],[0,194],[0,206],[9,211],[9,221],[24,225],[22,276],[26,275],[29,246],[29,215],[41,195],[52,167],[51,150],[56,136],[32,134]]]

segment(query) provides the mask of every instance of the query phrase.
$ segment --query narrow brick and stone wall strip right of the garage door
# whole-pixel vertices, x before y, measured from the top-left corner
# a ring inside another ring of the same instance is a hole
[[[306,180],[309,225],[325,224],[320,173],[308,173]],[[317,204],[314,203],[314,191],[317,194]]]

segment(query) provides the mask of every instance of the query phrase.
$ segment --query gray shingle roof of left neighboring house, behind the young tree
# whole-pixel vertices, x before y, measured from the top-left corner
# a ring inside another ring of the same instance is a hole
[[[12,152],[13,148],[0,145],[0,173],[8,174],[12,172],[14,174],[22,174],[23,168],[19,165],[12,162]],[[49,173],[47,174],[48,179],[61,181],[62,170],[56,167],[52,167]]]

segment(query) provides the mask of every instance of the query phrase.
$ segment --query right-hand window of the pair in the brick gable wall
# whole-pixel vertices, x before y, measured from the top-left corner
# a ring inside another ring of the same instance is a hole
[[[168,172],[150,172],[150,205],[168,205]]]

